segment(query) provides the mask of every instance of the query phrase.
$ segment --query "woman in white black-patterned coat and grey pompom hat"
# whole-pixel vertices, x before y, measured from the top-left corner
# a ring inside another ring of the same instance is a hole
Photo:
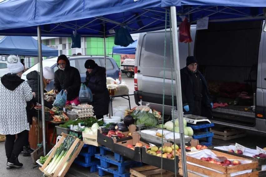
[[[17,56],[7,58],[8,74],[0,82],[0,134],[6,135],[5,150],[7,156],[7,169],[22,167],[18,161],[24,142],[28,141],[29,124],[27,121],[26,102],[34,103],[32,89],[21,79],[24,66]],[[17,139],[16,139],[17,134]],[[15,141],[16,140],[16,141]]]

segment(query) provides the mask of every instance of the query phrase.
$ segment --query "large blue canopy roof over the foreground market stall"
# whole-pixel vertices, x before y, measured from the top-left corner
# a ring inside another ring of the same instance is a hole
[[[130,33],[169,28],[170,11],[176,6],[191,24],[209,17],[209,22],[264,20],[264,0],[5,0],[0,3],[0,35],[69,37],[77,31],[82,37],[114,36],[114,29],[127,25]],[[222,19],[222,20],[221,20]],[[105,35],[104,35],[105,31]]]

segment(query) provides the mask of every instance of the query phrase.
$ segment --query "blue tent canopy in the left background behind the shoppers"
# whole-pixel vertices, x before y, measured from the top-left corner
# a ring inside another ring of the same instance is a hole
[[[38,41],[31,36],[6,36],[0,40],[0,54],[38,56]],[[42,56],[58,56],[58,50],[42,44]]]

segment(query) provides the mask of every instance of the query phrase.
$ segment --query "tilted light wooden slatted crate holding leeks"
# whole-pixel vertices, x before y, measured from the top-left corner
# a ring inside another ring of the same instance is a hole
[[[62,162],[60,163],[60,165],[58,166],[57,170],[55,171],[54,174],[48,174],[46,170],[44,170],[48,163],[50,162],[50,160],[52,159],[53,155],[56,153],[57,148],[61,145],[61,143],[65,140],[65,138],[67,136],[71,136],[71,135],[66,135],[64,133],[62,133],[62,137],[60,138],[60,140],[57,142],[54,150],[51,152],[51,154],[49,155],[49,157],[47,158],[47,160],[44,162],[44,164],[42,165],[42,167],[39,167],[39,169],[48,176],[52,176],[52,177],[57,177],[59,172],[62,170],[63,166],[65,165],[66,161],[69,159],[69,156],[71,155],[71,153],[74,151],[74,149],[76,148],[76,145],[78,143],[80,143],[76,149],[76,151],[74,152],[74,154],[72,155],[71,159],[69,160],[65,170],[63,171],[61,177],[65,176],[67,171],[69,170],[71,164],[73,163],[73,161],[75,160],[75,158],[77,157],[77,155],[79,154],[82,146],[84,145],[84,142],[81,141],[80,139],[78,139],[77,137],[75,138],[75,141],[73,142],[72,146],[70,147],[70,149],[68,150],[68,152],[66,153],[66,156],[63,158]]]

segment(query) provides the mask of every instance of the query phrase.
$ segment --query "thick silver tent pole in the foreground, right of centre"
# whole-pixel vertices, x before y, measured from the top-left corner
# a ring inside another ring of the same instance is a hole
[[[176,102],[179,119],[179,132],[180,132],[180,146],[182,157],[183,176],[187,177],[187,160],[185,151],[185,136],[184,136],[184,121],[183,121],[183,108],[182,108],[182,93],[180,82],[180,64],[179,64],[179,49],[178,49],[178,36],[177,36],[177,20],[175,6],[170,7],[171,23],[172,23],[172,38],[173,38],[173,56],[175,64],[175,86],[176,86]]]

